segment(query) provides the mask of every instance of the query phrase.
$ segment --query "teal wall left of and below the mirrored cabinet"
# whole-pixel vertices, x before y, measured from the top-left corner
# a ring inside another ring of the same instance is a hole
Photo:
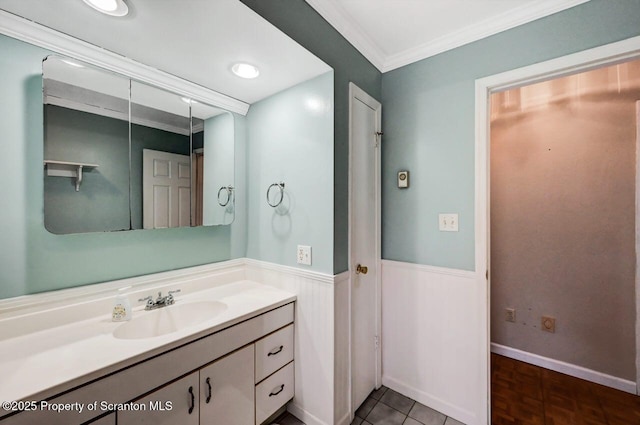
[[[230,226],[53,235],[43,223],[42,59],[0,36],[0,298],[221,261]]]

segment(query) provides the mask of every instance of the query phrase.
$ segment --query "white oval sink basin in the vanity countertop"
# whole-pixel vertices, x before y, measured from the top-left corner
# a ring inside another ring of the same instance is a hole
[[[226,309],[227,305],[219,301],[178,301],[168,307],[143,311],[140,316],[118,326],[113,336],[119,339],[153,338],[213,319]]]

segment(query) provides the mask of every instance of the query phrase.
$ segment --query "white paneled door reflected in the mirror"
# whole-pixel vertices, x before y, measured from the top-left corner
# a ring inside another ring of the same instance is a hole
[[[142,217],[145,229],[191,225],[191,159],[142,151]]]

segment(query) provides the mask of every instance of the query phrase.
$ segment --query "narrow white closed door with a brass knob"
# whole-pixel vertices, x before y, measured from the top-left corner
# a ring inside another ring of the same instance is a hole
[[[380,387],[380,139],[382,106],[350,91],[351,412]],[[358,265],[360,268],[358,268]]]

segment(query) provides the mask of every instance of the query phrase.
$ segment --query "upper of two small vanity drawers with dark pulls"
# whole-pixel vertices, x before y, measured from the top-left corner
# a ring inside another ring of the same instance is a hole
[[[256,342],[256,384],[293,360],[293,324]]]

